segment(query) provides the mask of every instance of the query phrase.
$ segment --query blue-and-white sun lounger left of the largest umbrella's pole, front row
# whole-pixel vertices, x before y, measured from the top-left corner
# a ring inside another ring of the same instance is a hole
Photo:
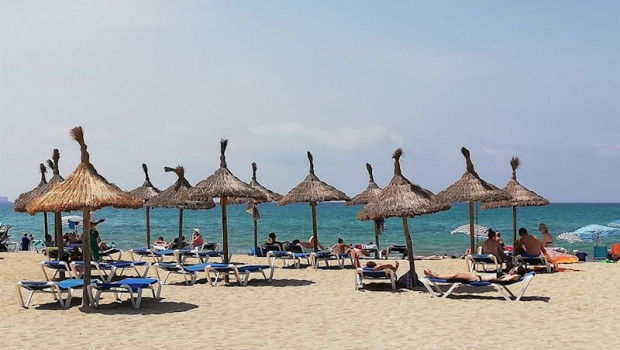
[[[84,280],[69,278],[66,280],[54,282],[54,281],[19,281],[17,282],[17,294],[19,296],[20,304],[23,308],[28,308],[32,301],[34,293],[51,293],[54,299],[58,300],[61,307],[69,307],[71,305],[71,298],[73,297],[74,289],[81,289],[84,285]],[[28,298],[24,302],[24,297],[21,290],[25,289],[29,292]],[[66,294],[66,299],[63,300],[63,294]]]

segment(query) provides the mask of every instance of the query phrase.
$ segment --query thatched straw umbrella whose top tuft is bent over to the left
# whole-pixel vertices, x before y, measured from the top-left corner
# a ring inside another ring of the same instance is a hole
[[[170,187],[161,191],[155,197],[149,199],[148,204],[151,207],[160,208],[178,208],[179,209],[179,242],[183,237],[183,210],[199,210],[215,208],[213,199],[206,198],[204,200],[191,200],[187,198],[187,194],[192,185],[185,179],[185,168],[178,165],[176,168],[164,167],[166,172],[174,172],[177,174],[177,181]]]

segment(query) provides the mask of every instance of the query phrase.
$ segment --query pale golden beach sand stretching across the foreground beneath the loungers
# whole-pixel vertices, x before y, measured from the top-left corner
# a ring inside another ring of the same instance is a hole
[[[278,261],[271,283],[260,277],[247,287],[211,287],[204,276],[186,286],[172,275],[163,299],[145,293],[140,309],[109,293],[98,308],[82,309],[81,291],[69,309],[48,294],[35,294],[23,309],[16,282],[42,279],[38,262],[45,257],[0,258],[4,349],[584,349],[616,347],[620,329],[619,264],[561,265],[563,272],[537,274],[520,302],[495,291],[434,299],[422,289],[392,292],[387,283],[357,291],[352,268],[281,268]],[[233,261],[267,263],[242,255]],[[461,259],[415,263],[418,273],[466,270]],[[407,266],[401,261],[399,273]]]

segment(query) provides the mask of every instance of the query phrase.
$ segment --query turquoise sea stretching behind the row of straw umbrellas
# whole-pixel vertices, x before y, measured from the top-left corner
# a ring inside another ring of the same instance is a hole
[[[230,249],[234,253],[247,253],[253,244],[252,217],[245,212],[245,205],[229,205],[228,233]],[[307,240],[312,234],[311,209],[307,203],[277,206],[275,203],[258,206],[261,219],[258,221],[259,243],[264,242],[270,231],[278,234],[280,241],[295,238]],[[371,221],[355,218],[361,206],[345,206],[343,203],[319,203],[317,205],[317,224],[319,241],[334,244],[338,237],[347,243],[369,243],[374,241]],[[221,210],[217,206],[211,210],[185,210],[183,212],[183,232],[191,236],[192,228],[197,227],[207,241],[222,241]],[[79,215],[81,212],[63,213]],[[469,246],[465,234],[452,235],[450,231],[468,223],[467,204],[457,203],[448,211],[409,219],[409,229],[415,254],[434,253],[460,256]],[[517,208],[518,227],[526,227],[537,235],[538,224],[544,222],[555,237],[562,232],[574,231],[588,224],[607,224],[620,219],[620,203],[552,203],[544,207]],[[104,241],[114,242],[121,249],[143,247],[146,245],[145,209],[102,208],[94,213],[96,219],[106,221],[98,226]],[[172,240],[178,235],[179,211],[177,209],[151,209],[151,236],[164,236]],[[477,222],[502,232],[506,244],[512,244],[512,209],[477,210]],[[48,214],[50,232],[53,232],[53,214]],[[30,216],[13,211],[13,204],[0,204],[0,221],[12,225],[13,240],[23,232],[32,233],[36,239],[43,237],[43,214]],[[69,231],[65,225],[63,232]],[[385,230],[380,236],[380,245],[385,248],[391,244],[404,244],[402,220],[390,218],[385,221]],[[608,237],[603,243],[610,245],[620,242],[620,236]],[[555,239],[556,246],[579,249],[592,253],[592,243],[574,243]]]

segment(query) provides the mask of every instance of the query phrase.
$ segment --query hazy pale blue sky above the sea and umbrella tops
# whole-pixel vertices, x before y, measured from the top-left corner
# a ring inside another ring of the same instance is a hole
[[[618,1],[0,0],[0,195],[60,151],[125,190],[219,167],[286,194],[315,174],[354,196],[465,171],[552,202],[620,202]],[[48,178],[51,174],[48,174]]]

